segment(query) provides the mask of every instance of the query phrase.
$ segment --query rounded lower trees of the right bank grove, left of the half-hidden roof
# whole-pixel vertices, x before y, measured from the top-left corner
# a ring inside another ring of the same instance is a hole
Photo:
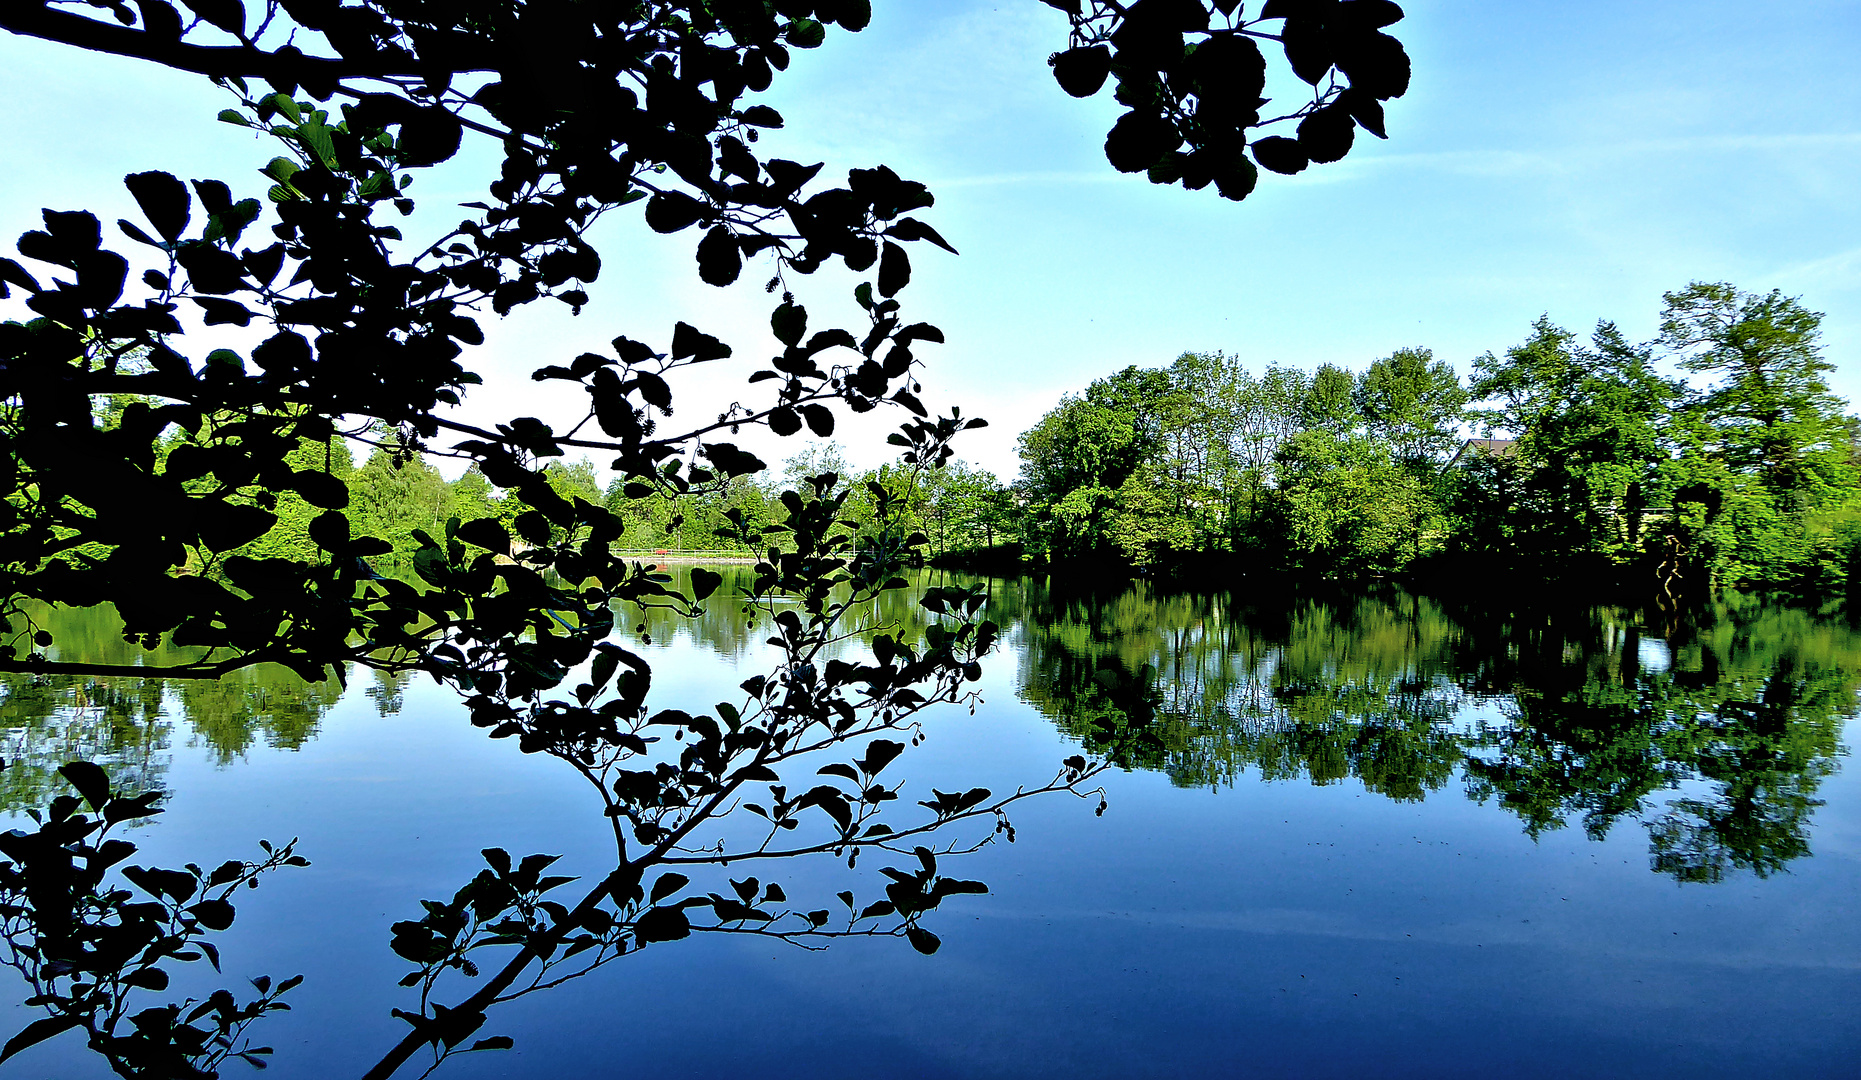
[[[1027,546],[1137,566],[1249,553],[1305,574],[1399,570],[1440,546],[1429,458],[1465,400],[1426,361],[1407,350],[1360,384],[1189,352],[1092,384],[1022,436]]]

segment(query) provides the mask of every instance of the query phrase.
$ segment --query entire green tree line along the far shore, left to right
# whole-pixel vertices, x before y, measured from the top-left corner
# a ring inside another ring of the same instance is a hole
[[[1828,385],[1820,322],[1779,292],[1695,283],[1666,294],[1654,341],[1539,318],[1465,380],[1426,348],[1316,372],[1185,352],[1061,398],[1020,436],[1012,480],[960,460],[852,469],[834,443],[780,477],[687,495],[629,497],[586,458],[547,477],[625,520],[616,549],[666,562],[752,559],[743,536],[785,520],[780,493],[836,473],[849,520],[869,521],[886,492],[919,559],[975,570],[1504,574],[1831,596],[1861,583],[1861,421]],[[476,467],[447,480],[396,439],[367,436],[361,462],[341,439],[305,443],[292,464],[342,479],[355,531],[400,557],[449,518],[525,510]],[[274,512],[244,553],[315,559],[318,510],[279,493]]]

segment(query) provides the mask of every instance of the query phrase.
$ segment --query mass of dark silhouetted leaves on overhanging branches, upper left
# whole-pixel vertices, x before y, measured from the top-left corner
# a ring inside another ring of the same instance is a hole
[[[125,637],[153,642],[171,633],[177,644],[220,650],[201,674],[270,659],[307,678],[348,661],[458,676],[454,652],[482,646],[488,652],[465,665],[471,676],[508,674],[501,689],[523,695],[579,655],[547,642],[519,648],[514,635],[564,616],[599,618],[612,600],[664,594],[649,574],[607,557],[620,518],[556,495],[542,475],[549,458],[569,445],[612,452],[612,467],[633,477],[629,493],[646,497],[763,469],[733,441],[713,438],[743,425],[828,434],[834,402],[923,413],[914,344],[942,333],[904,324],[895,294],[910,279],[904,244],[947,248],[908,216],[930,205],[929,192],[884,166],[804,192],[821,166],[759,160],[757,130],[778,127],[780,115],[739,101],[769,86],[789,48],[817,45],[824,24],[864,26],[862,4],[396,4],[391,13],[287,4],[298,26],[324,34],[341,54],[318,63],[294,47],[253,45],[227,58],[225,48],[188,41],[167,41],[156,56],[154,43],[132,39],[162,34],[162,19],[149,13],[166,6],[143,7],[143,28],[125,32],[130,41],[114,50],[175,61],[175,50],[203,48],[195,60],[221,65],[212,73],[244,102],[221,119],[285,143],[288,153],[262,169],[277,223],[268,246],[242,246],[262,216],[257,199],[234,199],[221,181],[138,173],[128,188],[145,225],[119,225],[156,259],[140,279],[147,298],[125,302],[130,263],[104,244],[87,212],[47,212],[45,229],[20,240],[20,255],[69,276],[45,281],[0,259],[0,294],[24,292],[39,315],[0,326],[0,469],[13,493],[0,506],[0,587],[15,605],[117,601]],[[240,24],[229,19],[207,22]],[[91,45],[82,34],[71,39]],[[352,93],[329,73],[368,89]],[[491,73],[471,93],[452,86]],[[251,88],[255,78],[272,93]],[[300,88],[354,101],[326,108],[298,101]],[[489,201],[476,203],[476,220],[409,255],[400,229],[380,216],[411,210],[411,169],[452,156],[465,127],[501,136],[504,162]],[[443,419],[441,410],[478,382],[460,363],[484,341],[476,311],[502,315],[543,296],[579,309],[582,285],[601,268],[586,229],[635,201],[653,229],[702,227],[698,270],[716,285],[763,251],[778,274],[810,274],[828,259],[871,270],[858,289],[867,326],[806,335],[808,311],[783,294],[772,326],[785,348],[752,376],[778,380],[772,400],[676,434],[661,432],[672,415],[668,372],[731,356],[683,322],[668,346],[616,337],[609,356],[538,371],[579,384],[603,438],[569,441],[530,417],[495,428]],[[182,305],[208,326],[268,324],[272,333],[248,356],[218,348],[190,359],[179,352]],[[104,395],[140,400],[104,430],[91,423],[91,402]],[[424,559],[452,587],[432,594],[378,581],[361,560],[387,546],[350,536],[342,482],[285,464],[305,441],[339,438],[339,423],[363,421],[408,432],[415,449],[441,432],[456,436],[445,452],[473,458],[532,508],[517,521],[532,555],[463,566],[454,536],[506,549],[493,521],[465,521],[463,533],[430,538]],[[272,529],[285,492],[324,510],[311,536],[328,559],[229,555]],[[203,568],[210,572],[197,574]],[[545,583],[556,575],[568,587]],[[601,585],[577,588],[588,581]],[[452,652],[435,655],[439,642]],[[47,668],[43,654],[17,642],[13,650],[0,665]]]

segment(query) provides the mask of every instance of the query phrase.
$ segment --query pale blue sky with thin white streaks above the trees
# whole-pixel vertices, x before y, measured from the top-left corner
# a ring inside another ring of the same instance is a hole
[[[1463,372],[1524,337],[1532,318],[1651,337],[1660,292],[1692,279],[1783,289],[1828,313],[1837,391],[1861,398],[1861,6],[1835,2],[1405,4],[1414,58],[1388,142],[1340,164],[1265,177],[1245,203],[1156,188],[1102,156],[1117,115],[1051,82],[1064,17],[1038,0],[880,0],[873,26],[798,54],[770,93],[789,119],[772,143],[830,169],[886,162],[932,186],[925,216],[962,257],[919,244],[908,311],[949,344],[929,352],[927,400],[992,421],[964,456],[1014,471],[1014,434],[1059,395],[1124,365],[1226,350],[1251,367],[1362,369],[1426,346]],[[272,156],[197,80],[0,37],[0,88],[19,123],[0,171],[0,235],[37,209],[128,212],[119,177],[145,168],[251,177]],[[456,220],[469,156],[421,177],[419,222]],[[696,281],[689,238],[605,225],[607,274],[581,318],[525,311],[478,359],[491,419],[562,402],[540,365],[616,333],[663,341],[676,318],[726,335],[739,369],[685,389],[739,393],[772,348],[759,281]],[[845,277],[798,292],[850,318]],[[703,371],[703,369],[700,369]],[[882,430],[841,432],[877,464]],[[769,439],[765,456],[789,452]]]

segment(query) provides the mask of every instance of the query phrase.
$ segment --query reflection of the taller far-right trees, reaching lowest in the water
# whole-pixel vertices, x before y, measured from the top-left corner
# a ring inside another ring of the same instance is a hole
[[[1654,868],[1680,881],[1764,877],[1809,855],[1814,791],[1855,713],[1861,644],[1794,609],[1751,601],[1669,628],[1673,665],[1641,667],[1619,613],[1511,650],[1504,722],[1481,728],[1468,793],[1533,836],[1580,816],[1600,838],[1645,821]],[[1600,631],[1599,631],[1600,628]],[[1656,791],[1675,790],[1666,804]]]

